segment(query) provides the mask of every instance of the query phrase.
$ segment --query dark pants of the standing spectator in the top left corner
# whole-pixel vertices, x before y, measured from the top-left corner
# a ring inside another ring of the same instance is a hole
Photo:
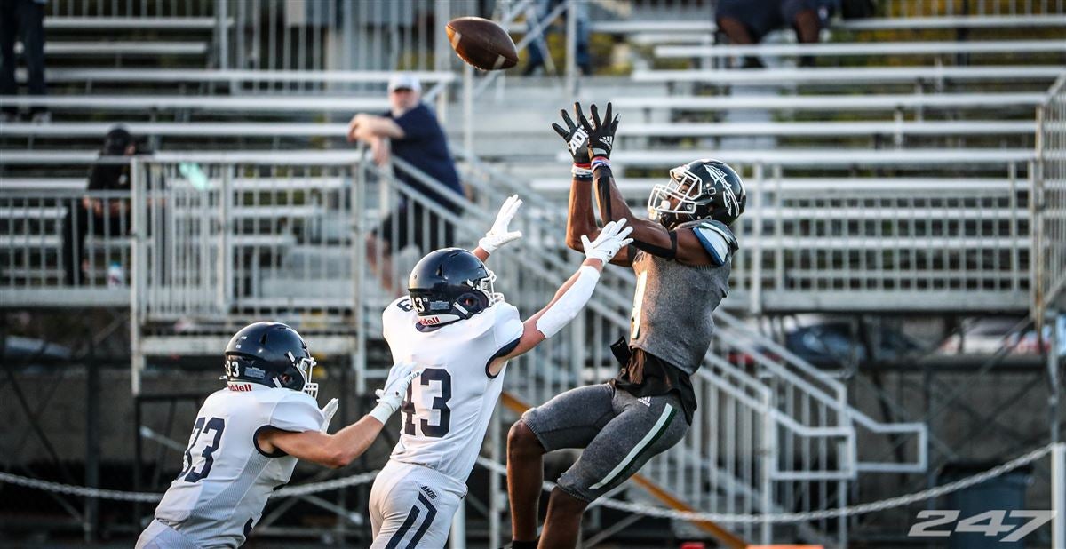
[[[15,95],[15,38],[22,37],[22,54],[30,84],[30,95],[45,95],[45,4],[33,0],[0,0],[0,95]],[[33,113],[47,109],[35,107]],[[3,112],[18,109],[5,106]]]

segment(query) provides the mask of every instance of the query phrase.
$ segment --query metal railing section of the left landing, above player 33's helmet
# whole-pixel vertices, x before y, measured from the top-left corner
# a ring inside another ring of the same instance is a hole
[[[306,325],[349,318],[352,156],[135,160],[139,320]]]

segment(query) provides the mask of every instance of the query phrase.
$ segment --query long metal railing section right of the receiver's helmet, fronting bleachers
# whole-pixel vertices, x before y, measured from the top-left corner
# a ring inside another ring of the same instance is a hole
[[[749,310],[1024,308],[1029,189],[1003,179],[802,179],[756,165],[736,290]],[[1032,165],[1027,166],[1032,174]]]

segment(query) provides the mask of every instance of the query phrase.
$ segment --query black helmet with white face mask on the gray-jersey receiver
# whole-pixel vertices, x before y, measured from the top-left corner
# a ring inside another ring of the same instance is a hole
[[[669,182],[657,184],[648,198],[648,215],[667,229],[710,217],[726,225],[744,213],[747,192],[740,175],[720,160],[693,160],[669,171]]]

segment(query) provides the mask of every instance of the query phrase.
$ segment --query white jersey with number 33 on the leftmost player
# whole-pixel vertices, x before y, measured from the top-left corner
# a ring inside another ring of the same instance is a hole
[[[184,468],[156,507],[156,519],[200,547],[240,546],[271,493],[296,467],[296,458],[280,450],[260,450],[256,433],[268,426],[318,431],[322,420],[305,392],[229,382],[200,406]]]

